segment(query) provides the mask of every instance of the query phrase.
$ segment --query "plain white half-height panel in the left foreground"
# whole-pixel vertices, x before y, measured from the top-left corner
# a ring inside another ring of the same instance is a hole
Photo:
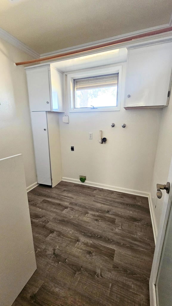
[[[36,270],[22,155],[0,159],[0,305],[13,304]]]

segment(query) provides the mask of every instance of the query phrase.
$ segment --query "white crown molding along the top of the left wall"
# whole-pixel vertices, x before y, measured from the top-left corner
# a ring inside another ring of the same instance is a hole
[[[10,43],[11,45],[13,45],[14,47],[18,48],[19,50],[27,53],[31,57],[33,57],[33,58],[40,58],[40,54],[38,52],[36,52],[35,50],[31,49],[30,47],[28,47],[27,45],[22,43],[16,37],[14,37],[13,35],[9,34],[5,30],[3,30],[2,28],[0,28],[0,37],[2,39],[4,39],[5,41],[7,41],[8,43]]]

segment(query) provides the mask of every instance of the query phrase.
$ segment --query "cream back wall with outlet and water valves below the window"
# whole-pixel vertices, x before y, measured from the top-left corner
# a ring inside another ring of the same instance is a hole
[[[124,71],[126,63],[122,65]],[[162,110],[125,110],[124,83],[125,73],[120,111],[70,113],[69,124],[62,122],[60,114],[63,177],[86,175],[87,181],[150,191]],[[106,144],[99,144],[99,130],[108,139]],[[88,139],[89,132],[93,132],[93,140]]]

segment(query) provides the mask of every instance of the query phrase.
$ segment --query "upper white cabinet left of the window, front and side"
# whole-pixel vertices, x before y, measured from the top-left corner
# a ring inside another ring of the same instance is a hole
[[[63,112],[63,74],[51,65],[26,68],[31,111]]]

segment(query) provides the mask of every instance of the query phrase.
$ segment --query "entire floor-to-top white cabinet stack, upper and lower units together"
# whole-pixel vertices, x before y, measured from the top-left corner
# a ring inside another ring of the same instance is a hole
[[[62,180],[59,114],[63,112],[63,75],[50,64],[25,68],[35,163],[39,184]]]

